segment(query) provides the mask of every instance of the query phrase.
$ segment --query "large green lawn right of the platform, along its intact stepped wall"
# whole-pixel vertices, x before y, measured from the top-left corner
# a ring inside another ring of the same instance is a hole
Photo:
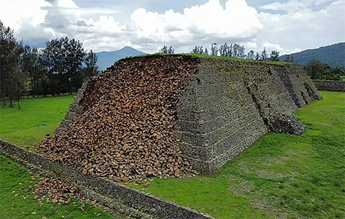
[[[212,176],[145,191],[216,218],[345,218],[345,93],[321,95],[295,113],[301,137],[270,133]]]

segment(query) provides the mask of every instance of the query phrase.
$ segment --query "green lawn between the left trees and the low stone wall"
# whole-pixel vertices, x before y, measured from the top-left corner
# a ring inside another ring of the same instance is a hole
[[[38,144],[47,134],[54,135],[72,103],[74,95],[37,97],[21,100],[21,109],[0,107],[0,138],[20,146]]]

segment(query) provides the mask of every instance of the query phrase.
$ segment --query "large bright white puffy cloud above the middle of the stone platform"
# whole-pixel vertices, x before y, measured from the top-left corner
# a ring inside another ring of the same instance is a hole
[[[233,39],[248,41],[262,30],[257,11],[244,0],[226,1],[223,8],[218,0],[210,0],[201,6],[185,8],[184,13],[168,10],[160,15],[139,8],[132,13],[132,22],[138,37],[147,37],[161,42],[193,41],[203,39]]]

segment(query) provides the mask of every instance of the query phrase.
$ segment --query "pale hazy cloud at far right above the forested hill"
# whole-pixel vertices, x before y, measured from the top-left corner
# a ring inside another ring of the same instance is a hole
[[[295,1],[286,3],[291,2]],[[339,0],[315,11],[311,8],[299,8],[285,14],[260,12],[259,20],[263,23],[264,30],[257,41],[268,41],[290,50],[316,48],[344,41],[344,8],[345,1]]]

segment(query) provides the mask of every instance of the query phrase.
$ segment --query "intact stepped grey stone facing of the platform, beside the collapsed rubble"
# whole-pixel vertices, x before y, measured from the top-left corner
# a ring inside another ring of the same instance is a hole
[[[295,64],[197,57],[192,61],[197,69],[184,84],[175,134],[193,168],[204,173],[213,173],[268,131],[301,135],[304,125],[291,113],[322,99]],[[90,95],[86,87],[57,131],[78,115],[83,95]]]

